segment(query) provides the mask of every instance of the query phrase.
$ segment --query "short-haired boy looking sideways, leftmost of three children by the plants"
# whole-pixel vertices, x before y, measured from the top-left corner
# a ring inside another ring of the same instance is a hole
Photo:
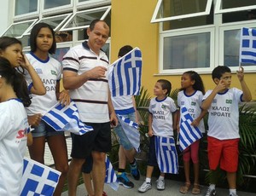
[[[148,166],[146,181],[138,188],[138,191],[141,193],[151,189],[151,176],[154,166],[158,166],[154,145],[155,136],[173,136],[173,127],[176,127],[176,124],[173,124],[173,122],[177,122],[177,107],[172,98],[168,96],[171,89],[172,84],[165,79],[158,80],[154,85],[154,95],[156,95],[156,97],[151,99],[148,109],[148,136],[150,137]],[[157,189],[165,189],[165,173],[160,173],[159,179],[157,180]]]

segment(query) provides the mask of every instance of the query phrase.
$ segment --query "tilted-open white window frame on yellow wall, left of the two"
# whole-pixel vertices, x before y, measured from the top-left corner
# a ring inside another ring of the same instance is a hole
[[[164,21],[170,21],[170,20],[180,20],[180,19],[185,19],[185,18],[190,18],[190,17],[195,17],[195,16],[201,16],[201,15],[207,15],[210,14],[211,11],[211,6],[212,6],[212,2],[213,0],[207,0],[207,6],[204,12],[198,12],[198,13],[193,13],[193,14],[183,14],[183,15],[178,15],[178,16],[171,16],[171,17],[166,17],[166,18],[160,18],[157,19],[157,14],[159,13],[160,9],[161,9],[161,3],[165,1],[165,0],[158,0],[156,7],[154,9],[154,14],[151,18],[151,23],[154,22],[164,22]]]

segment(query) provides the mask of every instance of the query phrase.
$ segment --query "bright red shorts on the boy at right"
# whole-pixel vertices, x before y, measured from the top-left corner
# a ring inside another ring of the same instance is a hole
[[[208,136],[208,159],[211,170],[220,168],[227,172],[236,172],[238,166],[238,143],[239,139],[220,141]]]

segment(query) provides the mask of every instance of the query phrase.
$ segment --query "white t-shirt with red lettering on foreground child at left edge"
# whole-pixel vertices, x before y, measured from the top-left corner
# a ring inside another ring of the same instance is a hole
[[[26,153],[26,111],[18,99],[0,103],[0,195],[19,195]]]

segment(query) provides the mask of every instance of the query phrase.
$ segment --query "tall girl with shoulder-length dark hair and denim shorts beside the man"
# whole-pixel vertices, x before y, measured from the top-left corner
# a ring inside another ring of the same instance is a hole
[[[40,96],[32,94],[32,104],[26,108],[30,118],[48,112],[57,103],[57,100],[65,105],[68,105],[70,101],[67,90],[60,93],[61,63],[49,56],[49,54],[54,54],[56,49],[54,35],[53,29],[46,23],[38,23],[32,28],[30,35],[31,52],[26,54],[26,57],[43,81],[46,94]],[[26,74],[26,80],[31,82],[29,74]],[[44,121],[41,121],[32,131],[32,136],[33,144],[29,147],[30,157],[39,163],[44,164],[45,141],[48,142],[55,161],[55,169],[61,171],[59,183],[55,188],[55,195],[61,195],[68,170],[64,132],[57,132]]]

